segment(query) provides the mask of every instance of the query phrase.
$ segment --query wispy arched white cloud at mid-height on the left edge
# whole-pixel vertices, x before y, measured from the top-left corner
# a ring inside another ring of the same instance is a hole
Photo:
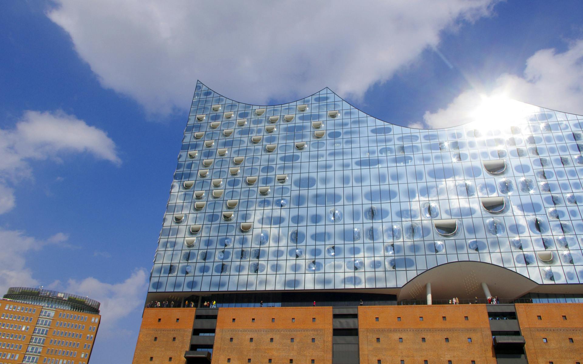
[[[26,111],[12,129],[0,129],[0,214],[15,206],[12,185],[31,177],[29,161],[89,153],[120,164],[107,133],[62,111]]]

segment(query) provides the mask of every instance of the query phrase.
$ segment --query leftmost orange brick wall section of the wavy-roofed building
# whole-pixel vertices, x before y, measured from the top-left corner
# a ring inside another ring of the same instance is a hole
[[[168,358],[172,358],[172,363],[184,364],[184,352],[190,347],[195,312],[194,308],[145,309],[132,363],[166,364]],[[156,341],[154,337],[157,337]],[[173,338],[176,340],[173,341]],[[151,362],[150,357],[153,358]]]

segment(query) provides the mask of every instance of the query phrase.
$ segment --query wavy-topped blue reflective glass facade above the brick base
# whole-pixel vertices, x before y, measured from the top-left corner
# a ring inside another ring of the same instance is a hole
[[[462,260],[583,282],[582,123],[413,129],[327,88],[262,106],[197,83],[149,291],[398,288]]]

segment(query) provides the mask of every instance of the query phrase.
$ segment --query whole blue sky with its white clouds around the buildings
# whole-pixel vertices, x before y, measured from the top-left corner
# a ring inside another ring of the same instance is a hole
[[[581,1],[333,4],[0,3],[0,290],[103,302],[92,363],[131,361],[196,79],[416,127],[499,94],[583,114]]]

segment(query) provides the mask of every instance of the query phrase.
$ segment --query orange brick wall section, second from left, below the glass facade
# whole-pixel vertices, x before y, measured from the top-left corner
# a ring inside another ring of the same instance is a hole
[[[311,359],[316,364],[331,364],[332,308],[222,308],[212,364],[227,363],[229,358],[231,364],[247,363],[248,359],[261,364],[268,359],[274,364],[287,364],[290,359],[301,364],[311,363]]]

